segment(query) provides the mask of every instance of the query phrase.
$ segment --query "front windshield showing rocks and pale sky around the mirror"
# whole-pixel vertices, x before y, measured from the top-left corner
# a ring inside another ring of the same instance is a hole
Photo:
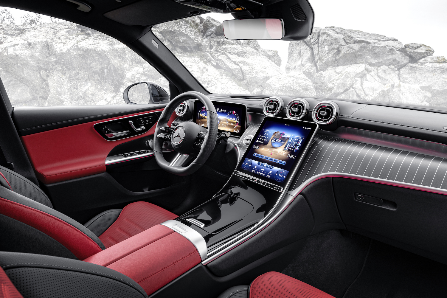
[[[430,11],[422,27],[422,21],[414,20],[425,8],[417,5],[410,12],[407,7],[404,16],[391,17],[385,12],[372,17],[378,11],[356,1],[352,7],[360,5],[371,16],[354,14],[351,8],[345,12],[351,21],[334,17],[340,16],[339,4],[338,8],[329,1],[312,5],[320,23],[316,21],[312,35],[304,41],[229,40],[223,36],[222,21],[232,16],[219,13],[170,21],[152,31],[211,93],[447,107],[447,60],[443,56],[447,42],[439,35],[447,30],[441,13],[445,11],[441,7],[447,8],[445,3],[439,2],[440,10]],[[387,5],[398,9],[389,1]],[[398,24],[412,18],[411,24]],[[438,34],[433,34],[435,30]],[[381,35],[383,32],[389,36]]]

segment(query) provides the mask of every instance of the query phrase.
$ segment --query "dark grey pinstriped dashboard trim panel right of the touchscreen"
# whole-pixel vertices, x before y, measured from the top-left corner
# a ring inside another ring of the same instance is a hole
[[[340,172],[447,189],[447,160],[441,157],[317,135],[291,189],[312,176]]]

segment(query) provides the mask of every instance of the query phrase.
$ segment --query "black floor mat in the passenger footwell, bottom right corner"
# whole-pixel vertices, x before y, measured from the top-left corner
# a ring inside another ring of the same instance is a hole
[[[447,265],[373,241],[365,267],[344,298],[447,296]]]

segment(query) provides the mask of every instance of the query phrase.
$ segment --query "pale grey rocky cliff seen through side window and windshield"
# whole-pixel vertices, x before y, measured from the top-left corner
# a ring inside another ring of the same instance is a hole
[[[447,107],[447,60],[430,46],[337,27],[276,50],[224,38],[200,16],[153,28],[210,92]],[[167,81],[127,46],[69,22],[0,25],[0,76],[13,105],[122,104],[127,85]]]

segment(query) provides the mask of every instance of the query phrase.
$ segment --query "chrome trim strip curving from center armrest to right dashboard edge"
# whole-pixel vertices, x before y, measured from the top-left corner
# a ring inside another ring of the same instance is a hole
[[[430,186],[423,186],[423,185],[414,185],[410,183],[405,182],[399,182],[399,181],[392,181],[392,180],[385,180],[380,178],[374,178],[374,177],[367,177],[367,176],[359,176],[354,174],[346,174],[346,173],[337,173],[337,172],[330,172],[330,173],[322,173],[316,176],[313,176],[309,178],[308,180],[304,181],[301,185],[299,185],[298,188],[288,191],[286,196],[278,200],[281,201],[279,204],[275,204],[274,212],[269,212],[266,217],[263,218],[263,222],[261,224],[257,224],[253,226],[253,228],[247,230],[245,233],[241,233],[236,238],[232,239],[232,241],[229,241],[229,243],[225,243],[219,248],[216,248],[212,252],[210,252],[208,255],[210,255],[206,260],[202,261],[202,264],[206,265],[210,263],[212,260],[217,259],[219,256],[222,256],[224,253],[229,252],[236,246],[238,246],[241,243],[244,243],[260,231],[262,231],[264,228],[266,228],[270,223],[272,223],[276,218],[278,218],[279,215],[281,215],[284,210],[287,209],[287,207],[291,204],[291,202],[305,189],[308,185],[310,185],[312,182],[315,182],[316,180],[320,180],[323,178],[330,178],[330,177],[338,177],[338,178],[349,178],[349,179],[355,179],[355,180],[362,180],[367,182],[375,182],[385,185],[392,185],[392,186],[398,186],[398,187],[405,187],[409,189],[415,189],[415,190],[421,190],[426,191],[430,193],[439,193],[447,195],[446,189],[439,189],[434,188]],[[265,220],[266,219],[266,220]]]

